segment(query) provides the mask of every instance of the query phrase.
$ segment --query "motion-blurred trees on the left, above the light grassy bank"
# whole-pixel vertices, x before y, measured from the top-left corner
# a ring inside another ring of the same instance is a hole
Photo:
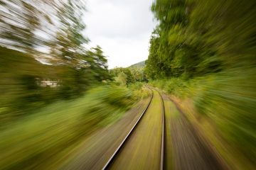
[[[100,46],[88,48],[82,1],[1,1],[0,120],[80,96],[110,79]]]

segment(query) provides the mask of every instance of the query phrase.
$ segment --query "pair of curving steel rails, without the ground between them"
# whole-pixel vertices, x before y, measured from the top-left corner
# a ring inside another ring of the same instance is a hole
[[[117,147],[117,149],[114,151],[114,153],[112,154],[112,156],[110,157],[110,159],[107,161],[107,163],[105,164],[105,166],[102,169],[112,169],[112,164],[114,164],[114,162],[117,160],[120,154],[120,152],[122,152],[122,149],[124,149],[124,147],[126,145],[128,145],[129,142],[129,138],[131,137],[132,134],[136,133],[137,131],[137,126],[139,125],[139,123],[142,122],[144,115],[146,115],[146,113],[149,110],[149,107],[154,107],[154,103],[152,103],[152,100],[154,99],[154,97],[156,96],[156,94],[159,94],[160,96],[160,102],[161,102],[161,148],[160,148],[160,164],[159,167],[157,169],[164,169],[164,100],[163,97],[161,96],[160,92],[157,91],[156,89],[151,89],[149,88],[151,91],[151,99],[149,101],[149,103],[147,104],[146,108],[144,109],[144,111],[142,112],[142,114],[139,116],[137,122],[134,124],[134,126],[132,127],[132,129],[128,132],[128,134],[126,135],[126,137],[124,137],[124,140],[122,140],[122,142],[120,143],[120,145]],[[154,92],[155,91],[155,92]],[[154,94],[155,93],[155,94]],[[137,158],[138,160],[140,159],[139,157]],[[157,158],[156,158],[157,159]],[[143,167],[141,167],[143,168]]]

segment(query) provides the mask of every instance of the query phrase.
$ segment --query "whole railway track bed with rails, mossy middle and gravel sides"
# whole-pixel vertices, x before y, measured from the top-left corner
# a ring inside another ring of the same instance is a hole
[[[228,169],[176,103],[149,89],[151,98],[134,108],[132,119],[124,117],[117,127],[99,133],[86,154],[65,169]]]

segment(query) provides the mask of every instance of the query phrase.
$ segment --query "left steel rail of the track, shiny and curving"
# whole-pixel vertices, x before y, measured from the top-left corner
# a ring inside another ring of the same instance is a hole
[[[150,88],[149,88],[150,89]],[[142,116],[144,115],[144,113],[146,112],[146,110],[149,108],[149,105],[152,101],[152,98],[154,96],[154,92],[152,91],[152,89],[150,89],[152,92],[151,98],[149,103],[147,104],[146,108],[144,109],[144,111],[142,112],[142,115],[139,116],[138,120],[136,121],[136,123],[134,124],[134,126],[132,127],[132,129],[128,132],[128,134],[126,135],[126,137],[124,137],[124,140],[122,140],[121,144],[117,147],[117,149],[114,151],[114,154],[112,154],[112,156],[110,157],[110,159],[107,161],[107,163],[105,164],[105,166],[102,168],[103,170],[107,169],[107,167],[110,166],[111,162],[114,160],[114,157],[117,156],[117,153],[119,152],[119,150],[121,149],[121,147],[124,145],[124,143],[126,142],[127,138],[129,137],[129,135],[132,134],[132,131],[135,129],[135,127],[138,125],[139,120],[142,119]]]

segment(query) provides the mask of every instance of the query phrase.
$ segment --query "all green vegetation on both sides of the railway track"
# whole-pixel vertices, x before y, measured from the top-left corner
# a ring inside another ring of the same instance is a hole
[[[83,35],[82,0],[1,1],[1,169],[54,169],[78,142],[149,96],[147,81],[191,101],[195,121],[220,135],[209,138],[218,146],[224,139],[242,153],[236,161],[255,166],[255,6],[155,0],[148,60],[108,70],[102,48]],[[221,152],[233,168],[230,153]]]

